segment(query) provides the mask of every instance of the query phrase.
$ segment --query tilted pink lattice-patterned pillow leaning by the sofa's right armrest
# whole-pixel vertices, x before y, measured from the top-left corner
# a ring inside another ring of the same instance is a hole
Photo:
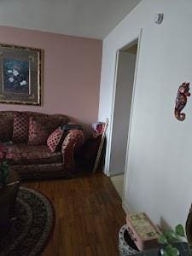
[[[57,128],[54,132],[49,135],[47,139],[47,145],[51,152],[55,152],[61,146],[61,138],[63,137],[64,131],[61,128]]]

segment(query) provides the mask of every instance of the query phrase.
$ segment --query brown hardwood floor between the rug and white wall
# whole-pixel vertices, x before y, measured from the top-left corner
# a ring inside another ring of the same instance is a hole
[[[47,195],[55,207],[55,230],[44,256],[118,255],[125,212],[108,177],[96,173],[23,185]]]

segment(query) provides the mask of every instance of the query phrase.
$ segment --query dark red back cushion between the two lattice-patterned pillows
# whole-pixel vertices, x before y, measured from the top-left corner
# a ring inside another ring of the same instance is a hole
[[[47,144],[49,135],[60,125],[59,119],[51,116],[31,116],[29,120],[29,139],[28,144],[44,145]]]

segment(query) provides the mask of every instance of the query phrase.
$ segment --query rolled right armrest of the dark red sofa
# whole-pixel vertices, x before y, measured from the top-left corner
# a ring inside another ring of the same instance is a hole
[[[69,130],[62,147],[62,160],[64,168],[73,169],[75,166],[74,150],[84,143],[84,133],[81,130]]]

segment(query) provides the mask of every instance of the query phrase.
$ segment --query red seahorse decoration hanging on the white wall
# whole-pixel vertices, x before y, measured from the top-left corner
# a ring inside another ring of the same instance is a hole
[[[187,103],[188,96],[190,96],[189,89],[189,83],[183,83],[178,87],[175,104],[175,117],[179,121],[183,121],[185,119],[185,113],[181,113],[181,111]]]

